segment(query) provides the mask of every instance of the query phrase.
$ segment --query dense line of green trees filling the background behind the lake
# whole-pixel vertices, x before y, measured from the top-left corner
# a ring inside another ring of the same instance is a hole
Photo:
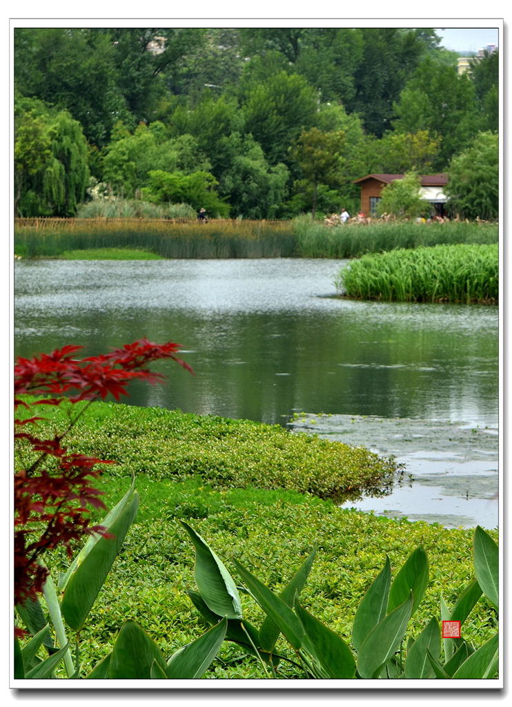
[[[481,144],[494,217],[498,53],[456,66],[431,29],[17,28],[16,214],[95,194],[290,218],[357,209],[367,173],[452,165],[464,211]]]

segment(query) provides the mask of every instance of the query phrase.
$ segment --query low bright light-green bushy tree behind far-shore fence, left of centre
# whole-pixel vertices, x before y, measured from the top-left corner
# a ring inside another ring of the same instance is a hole
[[[172,204],[190,204],[199,211],[206,209],[210,216],[226,218],[230,206],[222,201],[215,192],[218,181],[208,172],[194,172],[190,175],[169,173],[163,170],[151,170],[150,185],[143,187],[143,198],[162,204],[169,201]]]

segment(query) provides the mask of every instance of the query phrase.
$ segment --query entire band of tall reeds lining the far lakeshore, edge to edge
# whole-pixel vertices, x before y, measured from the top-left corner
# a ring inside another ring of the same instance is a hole
[[[497,243],[498,226],[478,223],[373,223],[328,228],[294,221],[25,219],[15,226],[15,254],[63,257],[69,251],[141,250],[165,258],[352,258],[396,248]],[[110,256],[109,256],[110,257]]]

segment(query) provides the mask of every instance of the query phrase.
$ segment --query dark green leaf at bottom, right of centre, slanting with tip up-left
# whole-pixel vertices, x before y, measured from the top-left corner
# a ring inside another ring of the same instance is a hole
[[[355,659],[343,638],[311,616],[298,602],[295,604],[295,609],[314,650],[313,657],[318,660],[328,677],[333,679],[355,677]]]

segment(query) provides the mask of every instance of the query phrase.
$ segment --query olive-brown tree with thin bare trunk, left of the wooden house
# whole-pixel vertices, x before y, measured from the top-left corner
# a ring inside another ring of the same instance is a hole
[[[315,218],[318,185],[339,186],[342,181],[343,132],[324,133],[318,128],[303,130],[297,143],[290,149],[292,160],[312,187],[311,218]]]

